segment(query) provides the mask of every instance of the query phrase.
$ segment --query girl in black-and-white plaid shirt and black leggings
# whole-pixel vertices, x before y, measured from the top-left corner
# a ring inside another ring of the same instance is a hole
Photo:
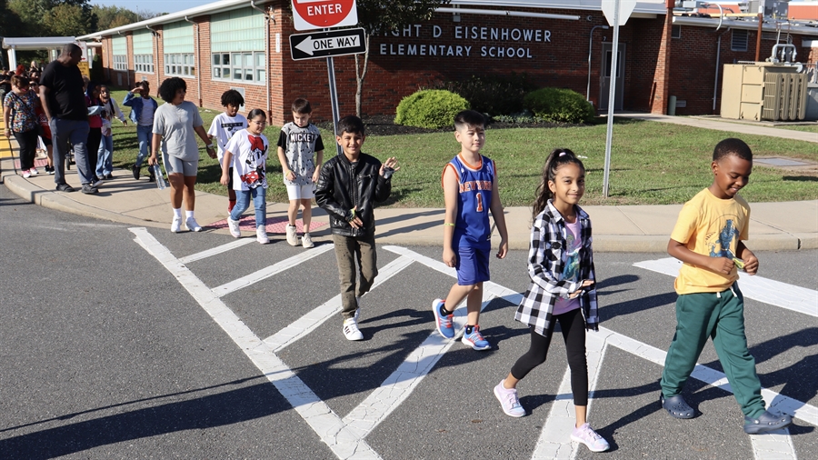
[[[593,452],[603,452],[609,447],[607,441],[585,421],[588,406],[585,330],[598,330],[599,319],[591,219],[577,205],[584,192],[583,162],[568,149],[556,149],[548,155],[534,202],[528,253],[531,284],[514,315],[514,319],[531,329],[531,348],[494,387],[494,395],[506,415],[525,415],[517,397],[517,383],[544,363],[554,325],[559,322],[571,368],[571,391],[576,408],[571,440],[587,445]]]

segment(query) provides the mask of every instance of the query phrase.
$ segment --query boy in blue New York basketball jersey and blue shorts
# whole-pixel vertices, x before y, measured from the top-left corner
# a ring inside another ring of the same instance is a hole
[[[454,309],[466,298],[468,318],[462,342],[478,351],[492,346],[480,334],[478,323],[483,304],[483,283],[489,280],[490,210],[500,232],[497,258],[502,259],[508,253],[508,232],[494,162],[480,154],[485,144],[484,126],[484,116],[474,110],[464,110],[454,116],[454,138],[461,149],[445,165],[443,173],[446,204],[443,261],[457,270],[457,283],[445,300],[434,299],[432,303],[438,332],[445,338],[454,339]]]

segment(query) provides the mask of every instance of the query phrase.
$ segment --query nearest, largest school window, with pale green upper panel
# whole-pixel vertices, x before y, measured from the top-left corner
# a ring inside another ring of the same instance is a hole
[[[264,15],[243,8],[211,17],[211,65],[214,80],[262,84],[267,77]]]

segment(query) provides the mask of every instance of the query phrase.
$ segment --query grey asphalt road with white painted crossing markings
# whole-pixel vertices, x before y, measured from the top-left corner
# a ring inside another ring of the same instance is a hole
[[[504,415],[492,395],[528,345],[513,319],[524,252],[492,263],[497,297],[481,324],[494,346],[478,353],[434,333],[429,305],[454,282],[435,265],[439,248],[379,247],[365,340],[347,342],[332,250],[275,237],[201,254],[233,242],[61,214],[0,186],[0,457],[532,458],[561,417],[573,423],[561,413],[559,335],[519,387],[529,415]],[[818,251],[759,256],[759,276],[779,288],[818,287]],[[693,420],[657,403],[662,365],[643,351],[673,337],[673,277],[633,264],[666,257],[596,255],[604,331],[589,350],[610,335],[589,420],[612,449],[560,456],[764,457],[767,438],[743,433],[723,388],[689,381]],[[815,315],[747,299],[745,322],[763,386],[814,410]],[[638,346],[610,345],[625,339]],[[722,370],[712,345],[699,362]],[[816,416],[780,436],[790,457],[818,451]]]

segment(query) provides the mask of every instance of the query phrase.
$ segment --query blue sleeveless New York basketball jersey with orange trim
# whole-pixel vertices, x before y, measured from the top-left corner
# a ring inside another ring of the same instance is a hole
[[[455,247],[473,246],[491,248],[491,226],[488,222],[494,185],[494,162],[481,155],[482,165],[474,169],[460,155],[455,156],[446,167],[454,168],[460,193],[457,202],[457,221],[454,223]]]

